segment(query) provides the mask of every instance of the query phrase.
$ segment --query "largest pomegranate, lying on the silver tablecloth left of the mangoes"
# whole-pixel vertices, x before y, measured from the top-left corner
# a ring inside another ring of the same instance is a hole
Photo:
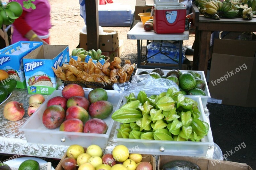
[[[9,121],[20,120],[25,114],[23,104],[17,101],[10,101],[4,106],[4,117]]]

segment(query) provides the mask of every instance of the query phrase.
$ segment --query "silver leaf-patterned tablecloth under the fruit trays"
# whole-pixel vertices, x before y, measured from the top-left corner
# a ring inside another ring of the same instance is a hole
[[[28,94],[27,89],[15,89],[9,99],[0,105],[0,153],[17,155],[27,155],[46,158],[59,158],[65,154],[69,146],[52,145],[52,144],[35,144],[28,143],[24,132],[20,131],[20,127],[29,118],[28,116],[28,99],[32,94]],[[43,95],[46,99],[49,95]],[[4,118],[4,106],[9,101],[18,101],[23,103],[25,115],[22,119],[12,122]],[[209,118],[208,109],[204,109],[205,115]],[[208,119],[209,120],[209,119]],[[210,123],[210,122],[208,122]],[[104,153],[111,153],[116,143],[113,141],[113,136],[116,129],[116,124],[111,132],[108,144],[104,148]],[[209,147],[206,158],[212,158],[214,147]]]

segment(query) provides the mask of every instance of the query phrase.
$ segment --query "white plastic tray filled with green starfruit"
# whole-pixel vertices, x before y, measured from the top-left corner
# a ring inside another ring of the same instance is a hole
[[[204,115],[204,109],[202,107],[200,96],[189,96],[189,98],[198,103],[198,109],[201,113],[199,119],[207,122],[210,126],[209,119],[207,119],[207,117]],[[126,100],[124,100],[124,103],[126,103]],[[116,129],[120,129],[120,124],[121,123],[119,122],[117,123]],[[124,139],[117,138],[117,130],[115,131],[113,141],[117,144],[125,145],[128,149],[132,149],[134,147],[139,148],[139,151],[136,153],[195,157],[206,156],[208,148],[213,147],[214,145],[211,127],[201,142]],[[164,152],[161,152],[160,150],[163,148]]]

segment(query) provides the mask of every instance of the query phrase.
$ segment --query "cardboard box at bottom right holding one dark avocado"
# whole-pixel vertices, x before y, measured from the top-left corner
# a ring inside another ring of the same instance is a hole
[[[159,156],[157,170],[160,170],[162,166],[172,160],[187,160],[197,164],[201,170],[252,170],[249,165],[223,161],[218,159],[200,159],[196,157],[183,157],[183,156]]]

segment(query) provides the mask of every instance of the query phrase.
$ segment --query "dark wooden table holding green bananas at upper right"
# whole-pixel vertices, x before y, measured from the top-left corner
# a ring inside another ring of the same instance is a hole
[[[196,5],[192,5],[193,24],[196,26],[193,70],[204,71],[207,75],[208,60],[212,57],[210,49],[211,33],[213,31],[229,31],[232,32],[225,36],[225,39],[235,39],[243,32],[256,31],[256,18],[246,20],[242,18],[221,18],[215,20],[199,16]]]

